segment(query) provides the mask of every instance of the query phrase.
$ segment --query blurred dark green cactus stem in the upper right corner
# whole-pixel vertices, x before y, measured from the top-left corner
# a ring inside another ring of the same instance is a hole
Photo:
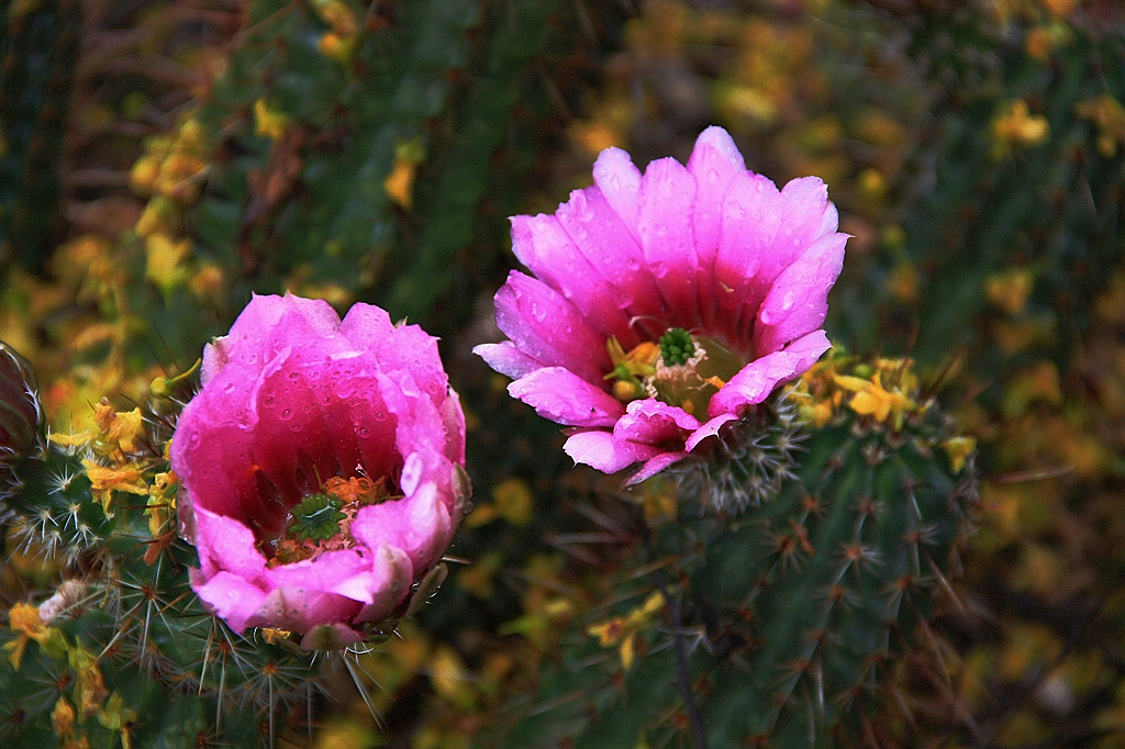
[[[978,3],[908,12],[896,28],[930,99],[897,208],[894,261],[919,273],[917,301],[845,290],[839,325],[882,351],[897,337],[925,367],[958,344],[973,345],[981,372],[1010,366],[1014,348],[1065,360],[1089,330],[1082,300],[1120,260],[1125,37],[1097,21],[998,22]],[[1026,305],[1005,298],[1005,272],[1028,278]],[[1000,345],[976,345],[987,340]]]

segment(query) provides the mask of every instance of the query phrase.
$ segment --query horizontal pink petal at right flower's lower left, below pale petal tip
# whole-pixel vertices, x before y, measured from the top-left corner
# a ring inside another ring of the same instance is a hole
[[[547,367],[507,386],[540,416],[569,426],[612,426],[626,409],[605,390],[561,367]]]

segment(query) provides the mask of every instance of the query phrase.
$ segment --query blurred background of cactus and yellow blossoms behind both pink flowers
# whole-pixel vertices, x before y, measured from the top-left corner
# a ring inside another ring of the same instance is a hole
[[[315,746],[490,746],[606,620],[662,489],[574,468],[470,349],[508,216],[716,124],[828,183],[831,340],[911,357],[979,441],[980,529],[880,746],[1125,747],[1118,0],[6,0],[0,26],[0,340],[54,428],[189,369],[252,291],[441,339],[477,507]],[[57,571],[11,552],[4,607]]]

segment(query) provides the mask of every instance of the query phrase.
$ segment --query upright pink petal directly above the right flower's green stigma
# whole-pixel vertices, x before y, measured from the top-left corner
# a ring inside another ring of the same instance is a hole
[[[645,261],[667,301],[665,319],[685,328],[700,324],[695,291],[699,256],[692,229],[695,190],[695,178],[678,161],[654,161],[640,183],[637,225]]]

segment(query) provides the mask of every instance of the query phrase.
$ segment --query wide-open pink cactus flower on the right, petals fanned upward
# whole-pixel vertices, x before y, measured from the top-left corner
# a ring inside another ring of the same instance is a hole
[[[778,190],[710,127],[687,165],[644,174],[606,148],[593,187],[515,216],[496,294],[510,341],[476,348],[508,391],[568,427],[565,450],[636,484],[683,460],[829,348],[846,234],[825,183]]]

